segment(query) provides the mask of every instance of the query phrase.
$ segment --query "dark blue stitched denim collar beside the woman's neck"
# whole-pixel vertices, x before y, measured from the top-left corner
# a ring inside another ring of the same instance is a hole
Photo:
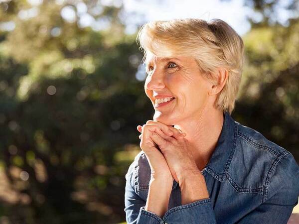
[[[232,158],[234,156],[237,140],[237,125],[228,112],[223,113],[223,125],[215,150],[202,172],[206,171],[220,182],[224,181]],[[173,181],[172,189],[177,182]]]

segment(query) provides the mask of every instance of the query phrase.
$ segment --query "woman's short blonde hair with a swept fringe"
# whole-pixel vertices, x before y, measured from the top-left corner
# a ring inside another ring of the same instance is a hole
[[[215,106],[231,114],[241,81],[244,44],[225,21],[194,18],[151,21],[140,27],[136,40],[140,50],[144,49],[144,63],[149,53],[163,57],[193,56],[200,72],[215,84],[217,67],[227,69],[228,79]]]

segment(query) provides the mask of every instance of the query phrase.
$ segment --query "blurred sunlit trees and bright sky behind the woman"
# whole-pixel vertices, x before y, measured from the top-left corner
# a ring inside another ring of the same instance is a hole
[[[232,116],[299,162],[298,0],[0,0],[0,224],[125,222],[136,126],[153,115],[136,34],[183,17],[242,36]]]

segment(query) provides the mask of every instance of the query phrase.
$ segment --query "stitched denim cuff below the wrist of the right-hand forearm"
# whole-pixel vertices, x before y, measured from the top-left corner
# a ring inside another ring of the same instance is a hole
[[[171,208],[165,213],[162,220],[169,224],[216,224],[210,198]]]

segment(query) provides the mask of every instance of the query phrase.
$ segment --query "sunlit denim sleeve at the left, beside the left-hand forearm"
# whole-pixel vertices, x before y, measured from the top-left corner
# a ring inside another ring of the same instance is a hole
[[[124,211],[127,224],[164,224],[156,214],[145,210],[146,201],[139,197],[134,188],[134,168],[135,162],[130,165],[126,174]]]

